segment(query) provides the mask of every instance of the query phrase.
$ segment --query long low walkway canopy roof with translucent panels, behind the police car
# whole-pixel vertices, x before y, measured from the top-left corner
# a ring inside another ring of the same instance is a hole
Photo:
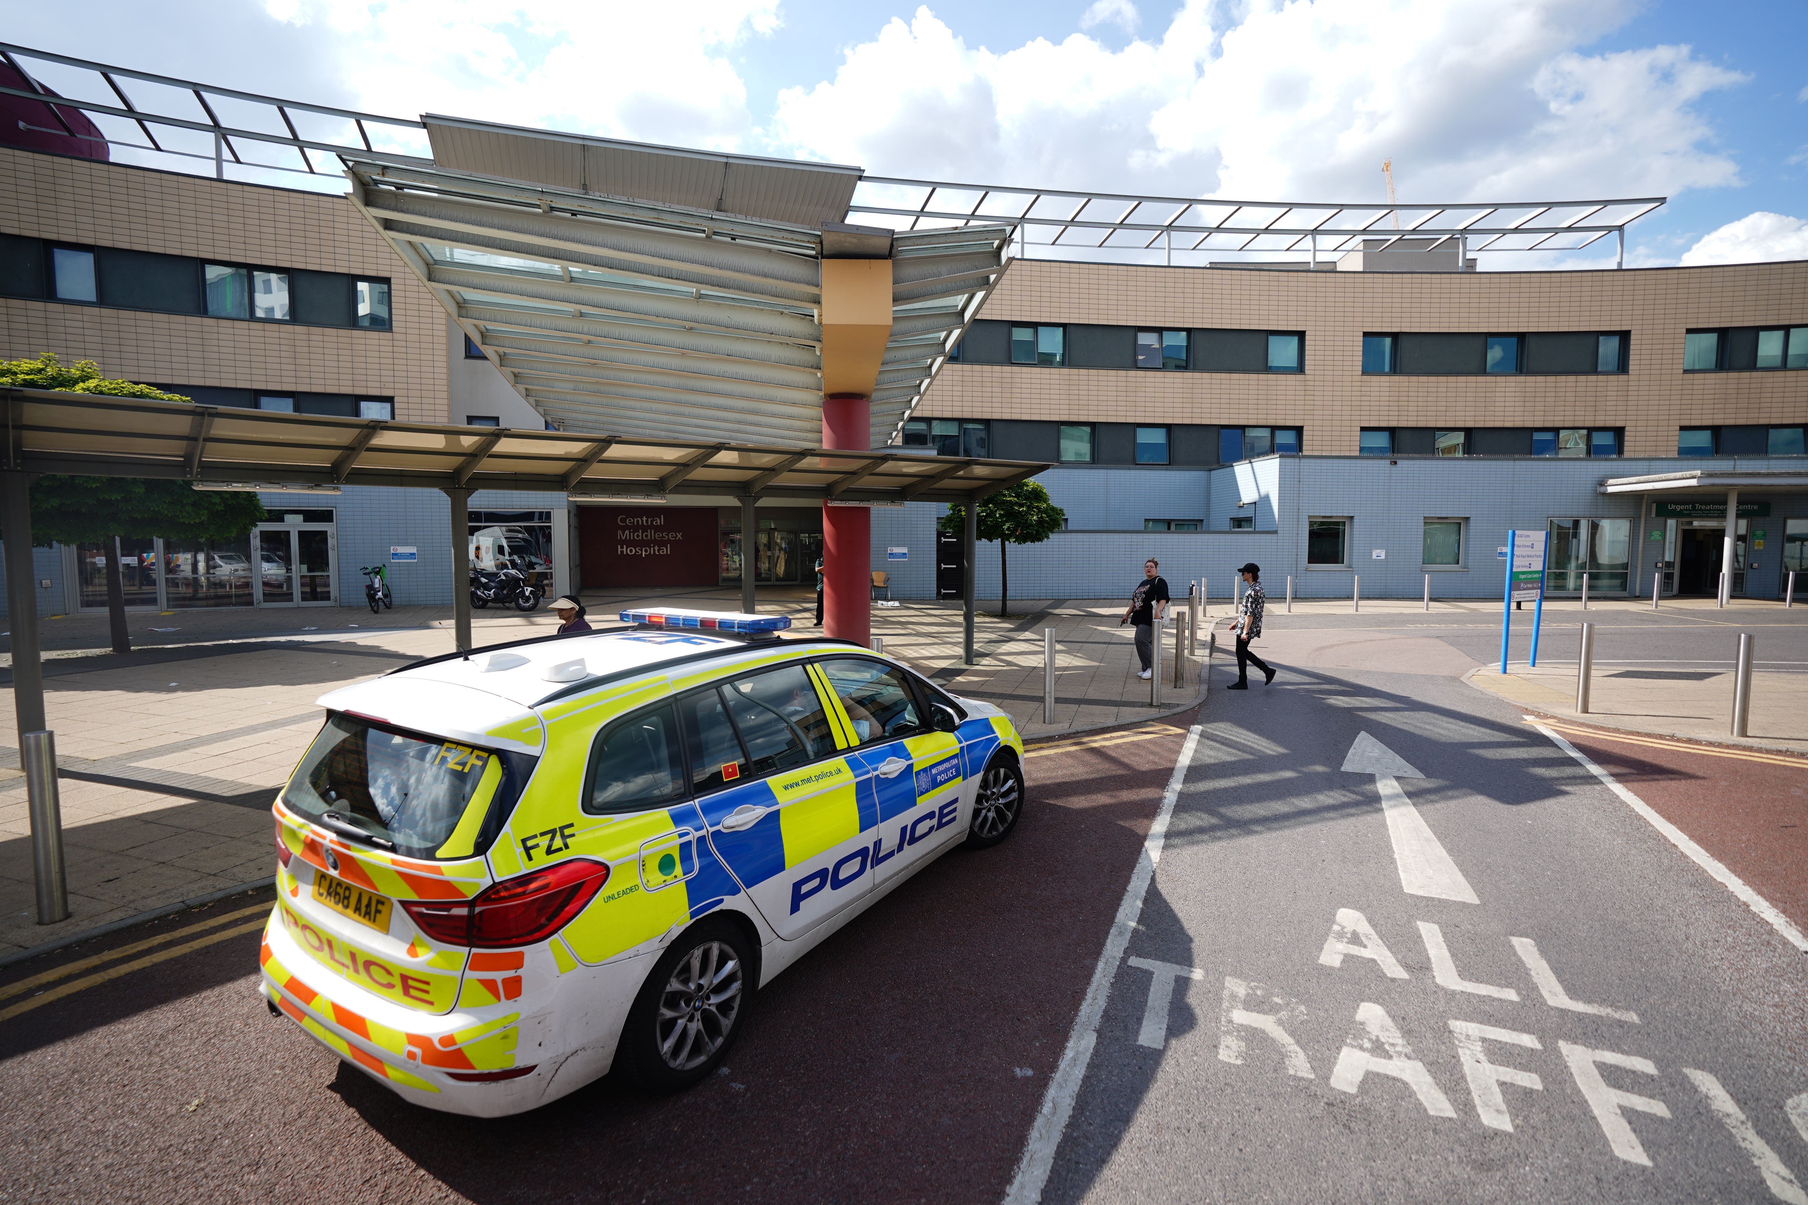
[[[965,502],[1047,464],[899,450],[837,452],[277,414],[183,401],[0,390],[0,468],[284,486],[548,490],[575,499],[732,495],[803,502]]]

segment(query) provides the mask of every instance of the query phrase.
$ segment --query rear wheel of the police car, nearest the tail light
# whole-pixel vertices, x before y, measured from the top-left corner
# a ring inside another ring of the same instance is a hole
[[[747,936],[729,920],[692,925],[660,956],[627,1012],[617,1066],[642,1091],[709,1077],[747,1024],[754,992]]]

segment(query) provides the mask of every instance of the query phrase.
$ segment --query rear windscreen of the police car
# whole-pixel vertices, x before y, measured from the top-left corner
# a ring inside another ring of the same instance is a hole
[[[412,858],[476,853],[508,759],[457,741],[398,732],[336,714],[282,793],[327,827],[363,831]],[[519,788],[517,788],[519,789]]]

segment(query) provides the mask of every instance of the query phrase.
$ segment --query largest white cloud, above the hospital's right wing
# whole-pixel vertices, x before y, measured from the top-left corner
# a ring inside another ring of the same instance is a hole
[[[1099,0],[1087,18],[1112,4]],[[1674,195],[1739,182],[1689,47],[1586,54],[1633,0],[1188,0],[1159,38],[993,52],[928,7],[779,96],[777,148],[897,175],[1253,201]],[[1110,9],[1116,11],[1116,9]]]

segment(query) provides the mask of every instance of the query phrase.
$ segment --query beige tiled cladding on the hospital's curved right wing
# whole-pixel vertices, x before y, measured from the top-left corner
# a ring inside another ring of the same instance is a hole
[[[982,318],[1305,331],[1305,370],[947,365],[918,417],[1304,426],[1349,455],[1363,426],[1624,426],[1674,455],[1678,426],[1799,423],[1808,372],[1683,374],[1690,327],[1808,325],[1808,262],[1521,273],[1304,273],[1012,260]],[[1363,376],[1361,334],[1631,331],[1629,372]]]

